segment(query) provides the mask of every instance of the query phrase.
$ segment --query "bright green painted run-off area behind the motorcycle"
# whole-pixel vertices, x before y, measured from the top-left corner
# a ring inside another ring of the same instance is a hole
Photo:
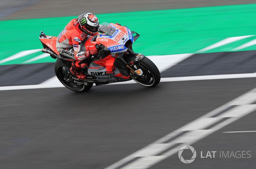
[[[135,52],[145,55],[194,53],[227,37],[256,35],[256,4],[231,5],[163,11],[128,12],[97,15],[99,21],[120,23],[141,36],[133,45]],[[57,36],[69,20],[56,17],[0,21],[0,60],[19,51],[42,48],[40,31]],[[256,37],[246,38],[206,52],[229,51]],[[242,50],[256,50],[256,46]],[[25,56],[3,64],[22,63],[41,54]],[[50,57],[38,62],[54,62]]]

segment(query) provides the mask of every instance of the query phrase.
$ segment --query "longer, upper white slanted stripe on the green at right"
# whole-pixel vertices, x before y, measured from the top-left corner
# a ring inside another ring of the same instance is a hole
[[[201,53],[201,52],[205,52],[205,51],[217,48],[217,47],[221,47],[221,46],[224,46],[226,44],[229,44],[229,43],[232,43],[232,42],[236,42],[238,40],[249,38],[251,36],[255,36],[255,35],[236,36],[236,37],[226,38],[226,39],[223,39],[223,40],[221,40],[221,41],[219,41],[217,43],[214,43],[214,44],[212,44],[212,45],[210,45],[210,46],[208,46],[206,48],[203,48],[203,49],[197,51],[197,53]]]

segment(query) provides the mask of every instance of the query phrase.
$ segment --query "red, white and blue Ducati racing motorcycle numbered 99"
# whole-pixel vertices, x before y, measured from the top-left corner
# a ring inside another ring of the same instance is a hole
[[[82,42],[84,51],[97,48],[98,54],[89,60],[86,79],[79,79],[69,68],[75,60],[61,55],[56,48],[55,36],[46,36],[43,31],[39,39],[43,45],[42,52],[50,54],[55,62],[54,70],[60,82],[76,92],[89,91],[93,84],[102,85],[115,82],[135,80],[146,87],[154,87],[160,82],[160,72],[155,64],[143,54],[135,53],[132,44],[139,34],[129,28],[113,23],[102,23],[96,36],[87,36]],[[135,36],[133,36],[135,35]],[[66,51],[67,52],[67,51]]]

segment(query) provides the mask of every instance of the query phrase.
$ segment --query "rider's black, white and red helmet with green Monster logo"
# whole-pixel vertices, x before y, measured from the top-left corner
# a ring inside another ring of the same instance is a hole
[[[92,13],[83,13],[78,16],[78,23],[81,30],[87,35],[97,35],[99,31],[99,20]]]

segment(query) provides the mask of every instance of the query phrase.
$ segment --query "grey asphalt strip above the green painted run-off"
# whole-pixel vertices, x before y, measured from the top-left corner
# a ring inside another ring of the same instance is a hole
[[[5,7],[7,11],[13,11],[20,1],[12,2]],[[150,11],[162,9],[179,9],[210,7],[221,5],[253,4],[255,0],[40,0],[38,3],[13,11],[4,16],[5,11],[0,12],[1,20],[31,19],[59,16],[76,16],[84,12],[93,13],[117,13],[131,11]]]

